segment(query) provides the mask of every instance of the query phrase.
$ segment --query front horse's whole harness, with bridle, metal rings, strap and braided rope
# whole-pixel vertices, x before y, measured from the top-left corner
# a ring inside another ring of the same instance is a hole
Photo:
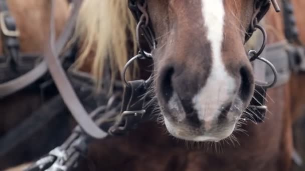
[[[63,49],[63,46],[69,39],[71,32],[73,31],[75,17],[82,0],[74,0],[73,2],[74,9],[72,11],[69,22],[67,23],[66,29],[64,29],[64,32],[56,42],[54,32],[54,18],[53,15],[51,15],[51,31],[49,36],[50,42],[48,48],[46,49],[45,55],[47,64],[50,68],[50,72],[61,95],[63,96],[63,101],[68,106],[74,118],[78,121],[79,126],[74,129],[74,133],[65,141],[63,145],[50,151],[48,155],[36,161],[27,170],[70,170],[77,162],[79,156],[86,152],[87,145],[90,140],[92,140],[92,137],[105,138],[108,134],[122,135],[127,133],[129,130],[134,129],[139,122],[151,118],[151,115],[149,115],[146,111],[147,107],[144,105],[145,101],[150,100],[149,94],[147,94],[147,90],[151,84],[151,79],[148,78],[147,80],[141,79],[132,81],[127,81],[125,79],[125,71],[127,67],[135,59],[152,59],[153,56],[148,51],[156,48],[157,43],[155,41],[153,29],[151,29],[149,15],[146,9],[147,1],[128,0],[129,9],[138,22],[136,26],[136,39],[138,43],[139,53],[132,57],[124,67],[122,78],[125,86],[122,103],[114,102],[120,100],[109,99],[107,102],[108,104],[96,108],[90,114],[88,114],[86,109],[83,107],[77,94],[73,90],[73,86],[69,82],[68,76],[61,68],[61,63],[58,57],[59,53]],[[254,14],[251,23],[249,24],[249,28],[247,29],[248,33],[245,36],[245,41],[247,41],[255,30],[259,29],[263,33],[262,45],[260,45],[258,51],[249,51],[249,60],[256,61],[257,59],[263,61],[270,67],[267,72],[269,72],[271,75],[274,75],[273,78],[268,82],[256,81],[256,91],[254,93],[254,97],[250,102],[249,108],[258,113],[258,116],[254,118],[257,122],[263,120],[264,114],[267,110],[266,106],[264,105],[266,89],[275,85],[278,76],[276,71],[277,69],[269,61],[269,59],[260,56],[265,49],[266,32],[264,28],[258,24],[258,22],[266,14],[269,7],[271,6],[271,3],[273,4],[275,10],[279,11],[279,6],[276,0],[255,0],[253,9]],[[52,1],[52,6],[52,8],[54,8],[54,1]],[[145,41],[140,41],[142,39]],[[149,49],[146,49],[145,47],[149,47]],[[267,49],[277,50],[278,47],[281,46],[267,46]],[[271,61],[273,62],[273,60]],[[113,103],[115,103],[115,105],[113,105]],[[118,111],[119,108],[120,111]],[[120,114],[117,117],[112,117],[112,119],[109,120],[109,117],[116,115],[118,112]]]

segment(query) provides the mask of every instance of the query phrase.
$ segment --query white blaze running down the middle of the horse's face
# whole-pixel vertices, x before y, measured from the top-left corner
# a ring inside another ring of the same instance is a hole
[[[202,14],[206,35],[211,43],[212,68],[205,86],[193,98],[198,117],[205,120],[211,128],[220,111],[221,105],[233,97],[235,81],[222,61],[221,47],[224,35],[225,10],[223,0],[202,0]]]

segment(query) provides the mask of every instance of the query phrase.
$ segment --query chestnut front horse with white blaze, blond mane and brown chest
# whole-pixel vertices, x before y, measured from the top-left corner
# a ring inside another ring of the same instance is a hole
[[[153,70],[155,115],[161,124],[148,121],[128,135],[96,141],[80,169],[289,170],[292,124],[303,113],[304,75],[291,72],[287,81],[268,89],[263,122],[253,121],[255,113],[244,112],[255,86],[245,40],[250,37],[256,2],[144,0],[141,11],[147,8],[147,13],[141,21],[153,30],[156,48],[151,50],[153,60],[146,65],[139,60],[137,65],[142,71]],[[292,2],[297,28],[303,30],[305,3]],[[117,73],[137,52],[136,42],[143,46],[130,3],[83,3],[75,33],[82,42],[78,67],[92,72],[100,84],[109,62],[112,77],[124,79]],[[273,9],[263,17],[267,44],[285,40],[282,18]],[[304,34],[299,32],[302,42]],[[188,148],[186,143],[197,147]]]

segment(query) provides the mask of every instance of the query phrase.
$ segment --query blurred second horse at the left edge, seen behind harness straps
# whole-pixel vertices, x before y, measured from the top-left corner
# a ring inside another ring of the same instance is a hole
[[[67,20],[69,14],[69,5],[67,1],[57,0],[58,5],[56,8],[56,31],[59,34],[63,25]],[[41,55],[45,49],[45,44],[48,40],[46,33],[49,31],[49,22],[50,22],[50,2],[49,0],[6,0],[1,2],[1,8],[3,9],[3,4],[7,3],[8,11],[10,15],[15,19],[16,28],[18,30],[17,39],[19,40],[19,52],[20,54],[33,54]],[[1,10],[2,14],[3,12]],[[2,29],[4,23],[1,23]],[[0,40],[0,51],[1,55],[4,55],[4,35],[1,34]],[[7,54],[7,53],[6,53]],[[8,56],[7,56],[8,57]],[[2,61],[3,62],[3,61]],[[2,63],[3,66],[3,63]],[[2,73],[4,74],[4,73]],[[10,72],[5,72],[5,74],[10,74]],[[23,76],[23,75],[20,75]],[[1,83],[5,83],[4,82]],[[41,83],[41,81],[40,81]],[[39,84],[39,83],[38,83]],[[6,135],[22,123],[27,117],[30,116],[32,112],[41,107],[45,101],[50,99],[54,95],[53,92],[48,92],[45,94],[45,99],[42,99],[41,90],[39,86],[27,86],[17,92],[8,94],[7,96],[0,98],[0,108],[1,108],[1,127],[0,132],[3,135]],[[53,120],[53,123],[58,123]],[[30,131],[30,130],[29,130]],[[40,130],[35,136],[31,136],[27,142],[19,144],[15,147],[13,151],[10,151],[9,154],[1,156],[1,169],[4,169],[8,166],[15,165],[17,163],[22,163],[25,161],[30,161],[39,155],[42,155],[44,152],[48,151],[49,148],[52,148],[59,141],[48,141],[45,140],[48,149],[37,148],[37,141],[43,142],[44,139],[47,139],[48,134],[52,133],[51,131]],[[45,135],[42,135],[45,134]],[[47,136],[46,136],[47,135]],[[49,143],[49,144],[47,144]],[[56,143],[56,144],[52,144]],[[50,146],[51,145],[51,146]],[[2,148],[6,148],[2,146]]]

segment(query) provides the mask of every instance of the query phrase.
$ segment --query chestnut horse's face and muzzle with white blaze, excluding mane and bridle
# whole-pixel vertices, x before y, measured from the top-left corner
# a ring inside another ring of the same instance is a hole
[[[155,92],[169,132],[228,137],[254,91],[246,32],[255,0],[148,0],[157,37]]]

